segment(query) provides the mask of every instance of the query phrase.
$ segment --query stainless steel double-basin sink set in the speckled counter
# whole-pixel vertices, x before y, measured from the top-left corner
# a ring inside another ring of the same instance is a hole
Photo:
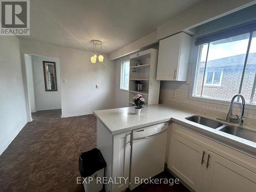
[[[186,117],[185,119],[195,123],[199,123],[204,126],[208,126],[212,129],[218,129],[219,131],[230,134],[230,135],[234,135],[243,139],[247,139],[249,141],[256,142],[256,132],[243,129],[238,126],[226,125],[220,121],[208,119],[208,118],[197,116],[197,115],[189,116],[189,117]]]

